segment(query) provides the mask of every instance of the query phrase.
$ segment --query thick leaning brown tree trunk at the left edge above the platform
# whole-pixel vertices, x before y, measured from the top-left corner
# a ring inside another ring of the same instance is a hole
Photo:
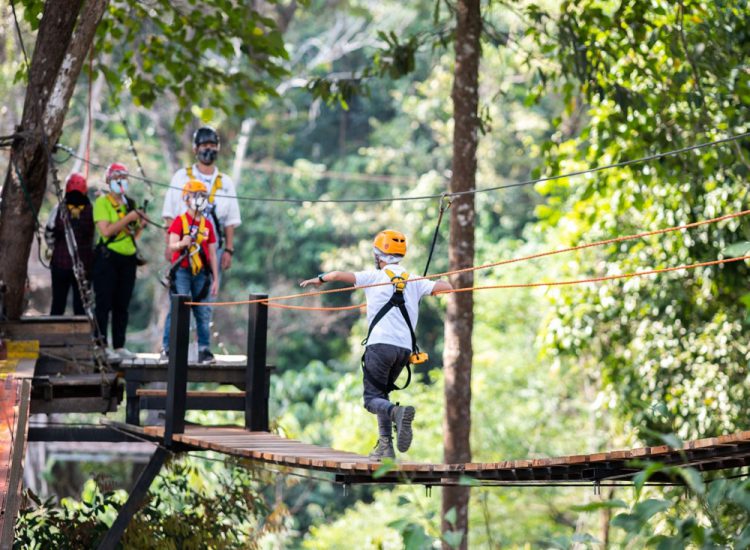
[[[49,151],[62,133],[70,97],[107,0],[49,1],[44,6],[29,70],[20,135],[13,143],[0,204],[0,281],[5,313],[23,312],[35,217],[47,187]],[[79,17],[80,14],[80,17]],[[79,22],[76,25],[76,22]]]

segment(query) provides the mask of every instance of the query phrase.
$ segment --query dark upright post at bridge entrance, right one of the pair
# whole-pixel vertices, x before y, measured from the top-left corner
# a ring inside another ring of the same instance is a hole
[[[250,294],[250,300],[264,300],[267,294]],[[247,369],[245,370],[245,428],[268,431],[268,377],[266,342],[268,306],[250,304],[247,316]]]

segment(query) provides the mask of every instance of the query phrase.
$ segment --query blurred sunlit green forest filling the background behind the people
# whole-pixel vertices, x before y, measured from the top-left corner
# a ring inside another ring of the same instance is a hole
[[[2,6],[0,129],[10,134],[23,107],[24,83],[16,77],[23,56],[10,6]],[[386,227],[408,235],[406,264],[420,271],[438,200],[305,199],[408,198],[446,191],[453,124],[452,6],[311,0],[269,7],[288,52],[288,72],[274,75],[267,85],[276,93],[253,97],[254,108],[242,117],[205,101],[187,105],[185,115],[158,82],[145,107],[144,90],[129,87],[133,82],[113,93],[103,78],[84,71],[60,139],[77,153],[67,159],[57,155],[58,169],[62,175],[84,169],[76,157],[85,152],[90,95],[90,186],[103,187],[103,167],[113,161],[136,172],[123,117],[146,175],[156,181],[151,189],[134,181],[133,193],[141,199],[153,194],[149,214],[158,218],[170,175],[192,161],[192,130],[209,123],[222,136],[219,166],[238,182],[239,195],[298,201],[241,201],[235,261],[220,298],[242,299],[254,291],[286,294],[320,271],[369,268],[372,236]],[[574,172],[746,132],[747,8],[740,1],[483,4],[477,187]],[[26,44],[32,44],[29,26],[22,32]],[[147,25],[142,32],[148,32]],[[413,65],[353,81],[355,89],[345,86],[349,75],[372,67],[383,52],[400,52]],[[119,59],[127,53],[96,55]],[[117,77],[115,70],[111,73]],[[308,86],[316,78],[324,80]],[[326,96],[330,82],[341,95]],[[0,163],[7,168],[7,157],[0,156]],[[478,193],[475,264],[739,212],[746,204],[749,169],[748,141],[738,140],[582,177]],[[40,219],[53,204],[50,193]],[[480,272],[477,283],[555,281],[740,255],[748,238],[742,220],[511,264]],[[149,263],[139,271],[128,346],[153,352],[167,308],[158,282],[165,267],[163,234],[149,228],[142,243]],[[447,267],[443,227],[431,271]],[[747,429],[747,274],[741,262],[593,285],[478,294],[473,459],[584,454]],[[28,296],[28,311],[46,311],[46,272],[31,270]],[[337,294],[306,303],[350,305],[361,299]],[[419,338],[432,360],[398,396],[418,411],[410,460],[442,461],[442,302],[423,304]],[[219,350],[242,352],[245,314],[242,307],[215,311]],[[366,454],[376,431],[360,403],[363,317],[272,310],[270,331],[269,363],[277,366],[271,397],[276,429]],[[56,467],[47,464],[51,494],[99,502],[92,496],[99,494],[93,481],[63,487],[53,473]],[[77,468],[81,480],[95,472],[115,487],[128,486],[128,464]],[[169,495],[177,503],[160,506],[173,514],[182,508],[184,497],[168,489],[178,479],[191,480],[185,491],[216,493],[223,487],[218,481],[211,488],[196,480],[225,474],[242,478],[237,470],[190,457],[187,466],[170,469],[157,489],[163,501]],[[359,548],[456,543],[450,534],[441,534],[436,492],[357,488],[343,495],[318,480],[258,476],[242,479],[255,484],[268,507],[238,520],[246,528],[245,538],[240,537],[244,543],[351,548],[353,533]],[[702,533],[706,540],[723,536],[744,547],[744,486],[692,483],[691,494],[608,489],[603,498],[591,488],[473,488],[470,545],[625,547],[667,537],[692,541]],[[710,498],[716,506],[706,506]],[[67,501],[70,509],[84,506],[74,500]],[[725,501],[726,507],[718,506]],[[155,513],[158,506],[152,508]],[[618,515],[619,508],[624,510]],[[27,527],[34,521],[29,518]]]

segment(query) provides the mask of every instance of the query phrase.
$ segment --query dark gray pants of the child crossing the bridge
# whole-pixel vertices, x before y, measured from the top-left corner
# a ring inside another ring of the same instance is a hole
[[[362,373],[363,398],[365,409],[378,417],[378,432],[381,436],[391,435],[391,419],[388,413],[392,404],[388,400],[388,392],[383,388],[398,378],[404,365],[409,361],[409,355],[411,350],[391,344],[372,344],[365,348],[364,369],[367,375]],[[377,387],[371,378],[381,387]]]

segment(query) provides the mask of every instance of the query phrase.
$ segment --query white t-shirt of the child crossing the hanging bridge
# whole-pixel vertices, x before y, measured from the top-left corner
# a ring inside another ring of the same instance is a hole
[[[391,279],[386,274],[386,269],[391,270],[394,275],[401,275],[406,271],[398,264],[387,265],[383,269],[377,271],[357,271],[354,274],[355,284],[357,286],[364,286],[374,283],[389,282]],[[412,275],[410,274],[409,276],[411,277]],[[435,281],[422,279],[421,281],[412,282],[407,279],[406,288],[404,289],[404,301],[406,302],[406,311],[409,313],[411,326],[415,332],[417,330],[417,321],[419,321],[419,301],[422,299],[422,296],[432,294],[434,288]],[[365,297],[367,298],[367,326],[369,328],[375,315],[380,311],[380,308],[391,299],[394,289],[392,285],[383,285],[365,288],[363,290],[365,291]],[[409,327],[406,325],[404,316],[397,307],[391,308],[391,310],[385,314],[385,317],[378,321],[378,324],[372,329],[372,334],[367,341],[367,345],[370,346],[372,344],[391,344],[393,346],[411,350],[411,334],[409,334]]]

